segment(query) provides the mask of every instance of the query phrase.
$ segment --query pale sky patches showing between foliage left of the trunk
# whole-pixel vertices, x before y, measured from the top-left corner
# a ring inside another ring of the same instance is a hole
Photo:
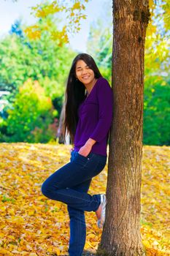
[[[68,0],[67,0],[68,1]],[[42,0],[18,0],[13,2],[12,0],[0,1],[0,37],[7,34],[12,23],[18,18],[22,18],[23,22],[31,25],[35,22],[35,18],[30,14],[30,7],[41,3]],[[98,18],[102,18],[104,23],[108,23],[112,20],[112,1],[109,0],[90,0],[88,4],[85,4],[87,14],[86,20],[81,21],[81,30],[74,37],[70,36],[70,45],[74,50],[86,51],[86,42],[88,40],[88,32],[90,24],[96,21]],[[110,10],[109,15],[104,10]]]

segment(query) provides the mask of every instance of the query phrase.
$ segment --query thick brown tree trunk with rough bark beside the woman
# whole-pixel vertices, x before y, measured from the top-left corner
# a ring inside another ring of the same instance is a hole
[[[112,89],[107,214],[97,255],[144,255],[140,236],[144,41],[149,1],[113,1]]]

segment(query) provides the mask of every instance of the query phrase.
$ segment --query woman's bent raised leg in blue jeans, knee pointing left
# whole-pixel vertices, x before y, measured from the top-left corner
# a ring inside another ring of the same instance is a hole
[[[42,194],[53,200],[66,203],[82,211],[96,211],[101,203],[100,195],[89,195],[70,187],[96,176],[106,165],[107,157],[90,153],[88,157],[76,154],[72,162],[55,171],[42,184]]]

